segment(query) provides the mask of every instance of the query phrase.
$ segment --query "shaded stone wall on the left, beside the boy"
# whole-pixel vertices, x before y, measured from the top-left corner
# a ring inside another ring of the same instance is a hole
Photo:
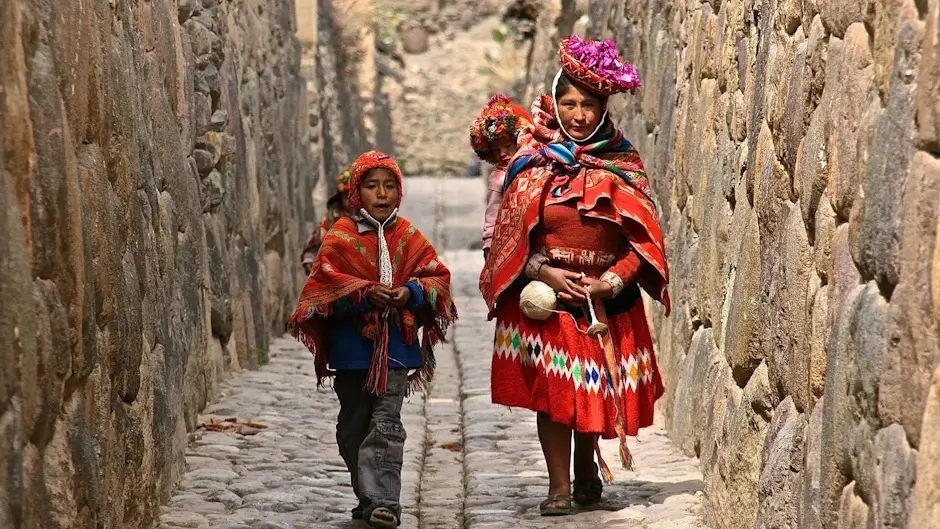
[[[0,527],[149,527],[300,287],[292,0],[0,3]]]

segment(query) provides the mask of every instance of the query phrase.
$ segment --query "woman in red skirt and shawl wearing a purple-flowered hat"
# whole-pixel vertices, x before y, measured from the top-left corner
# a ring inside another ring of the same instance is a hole
[[[636,72],[612,41],[572,36],[559,58],[552,94],[533,105],[534,123],[510,163],[480,276],[497,323],[493,402],[538,414],[546,516],[571,513],[572,500],[601,500],[594,452],[605,480],[613,476],[598,437],[619,438],[621,460],[632,468],[626,436],[652,424],[663,394],[640,287],[669,312],[662,230],[643,164],[607,117],[609,96],[639,87]],[[534,280],[557,295],[556,313],[544,321],[520,308],[522,288]],[[606,336],[586,334],[588,299]]]

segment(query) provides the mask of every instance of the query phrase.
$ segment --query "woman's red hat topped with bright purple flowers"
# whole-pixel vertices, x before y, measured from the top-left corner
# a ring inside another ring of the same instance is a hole
[[[571,35],[561,41],[558,61],[569,79],[602,97],[634,93],[641,86],[636,69],[620,58],[613,40],[584,40]]]

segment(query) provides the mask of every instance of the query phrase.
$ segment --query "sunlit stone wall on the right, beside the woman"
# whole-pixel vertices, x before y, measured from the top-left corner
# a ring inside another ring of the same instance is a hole
[[[668,233],[661,409],[715,527],[936,527],[940,2],[589,5],[537,21],[529,76],[587,15],[645,82],[611,107]]]

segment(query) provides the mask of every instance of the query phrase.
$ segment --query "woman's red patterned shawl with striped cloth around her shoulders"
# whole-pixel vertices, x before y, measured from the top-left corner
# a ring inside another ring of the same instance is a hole
[[[529,236],[541,222],[546,187],[563,181],[577,183],[582,215],[604,218],[624,227],[637,254],[655,274],[644,274],[640,283],[653,298],[670,310],[669,266],[656,208],[647,195],[649,184],[636,149],[608,123],[594,143],[577,145],[559,132],[551,97],[542,96],[532,108],[535,118],[523,132],[525,146],[510,164],[509,187],[503,196],[489,258],[480,273],[480,292],[493,317],[502,294],[525,269]],[[571,152],[570,147],[574,146]],[[514,169],[521,168],[517,174]],[[570,172],[583,178],[573,178]]]

